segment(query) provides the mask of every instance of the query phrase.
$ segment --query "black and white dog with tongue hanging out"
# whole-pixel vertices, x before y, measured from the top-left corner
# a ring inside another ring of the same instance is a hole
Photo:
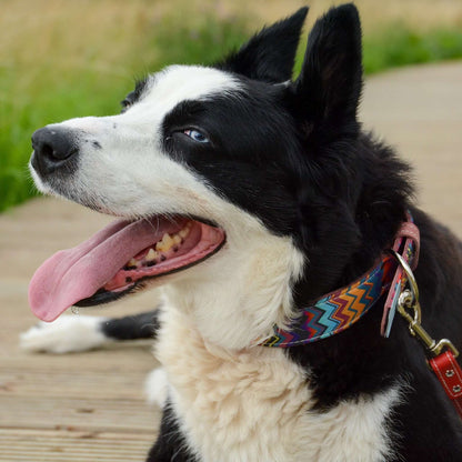
[[[160,284],[164,302],[121,320],[63,317],[22,342],[154,338],[163,419],[149,461],[462,461],[461,422],[406,322],[380,335],[386,293],[343,332],[261,344],[373,268],[410,211],[425,327],[462,346],[461,243],[412,205],[409,167],[356,118],[356,9],[318,20],[291,80],[307,11],[219,63],[149,76],[121,114],[33,134],[41,191],[120,218],[38,270],[36,314]]]

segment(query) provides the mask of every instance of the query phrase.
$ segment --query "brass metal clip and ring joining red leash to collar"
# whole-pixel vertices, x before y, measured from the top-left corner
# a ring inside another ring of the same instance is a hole
[[[398,300],[398,312],[409,322],[409,331],[412,337],[415,337],[429,351],[432,356],[438,356],[444,349],[449,349],[454,354],[459,355],[458,349],[448,339],[441,339],[436,342],[421,324],[422,311],[419,303],[419,288],[415,277],[406,263],[406,261],[394,250],[390,251],[398,260],[408,275],[409,289],[405,289]]]

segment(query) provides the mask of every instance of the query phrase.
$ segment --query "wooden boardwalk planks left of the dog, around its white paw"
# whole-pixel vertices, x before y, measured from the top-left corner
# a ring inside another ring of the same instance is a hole
[[[19,333],[37,322],[27,302],[33,270],[106,221],[49,199],[0,215],[1,462],[142,462],[154,441],[159,410],[143,395],[145,375],[157,365],[149,342],[68,355],[30,354],[18,344]],[[81,312],[117,315],[152,303],[144,297],[122,307]]]

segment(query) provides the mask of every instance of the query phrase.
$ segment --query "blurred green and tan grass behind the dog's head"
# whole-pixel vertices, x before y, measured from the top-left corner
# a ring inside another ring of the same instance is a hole
[[[308,32],[334,2],[0,0],[0,211],[34,194],[27,162],[37,128],[118,112],[137,78],[169,63],[213,62],[307,3]],[[366,74],[462,57],[461,0],[355,3]]]

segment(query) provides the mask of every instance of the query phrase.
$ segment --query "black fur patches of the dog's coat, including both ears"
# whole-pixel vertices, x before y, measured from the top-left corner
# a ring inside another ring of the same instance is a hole
[[[272,233],[293,239],[309,261],[293,288],[299,309],[370,269],[410,210],[421,231],[415,277],[424,328],[462,350],[462,244],[413,207],[409,165],[364,133],[356,118],[362,88],[358,11],[346,4],[321,18],[300,76],[287,82],[305,14],[301,9],[264,29],[214,64],[231,73],[240,90],[178,104],[163,121],[164,149]],[[143,88],[139,83],[124,104],[142,99]],[[194,127],[207,142],[184,134]],[[462,425],[454,409],[401,319],[390,339],[380,337],[380,305],[338,335],[287,351],[310,373],[312,412],[406,384],[388,421],[396,451],[392,460],[462,461]],[[155,335],[158,321],[145,313],[101,328],[114,339],[145,338]],[[168,404],[149,461],[173,460],[195,458]]]

